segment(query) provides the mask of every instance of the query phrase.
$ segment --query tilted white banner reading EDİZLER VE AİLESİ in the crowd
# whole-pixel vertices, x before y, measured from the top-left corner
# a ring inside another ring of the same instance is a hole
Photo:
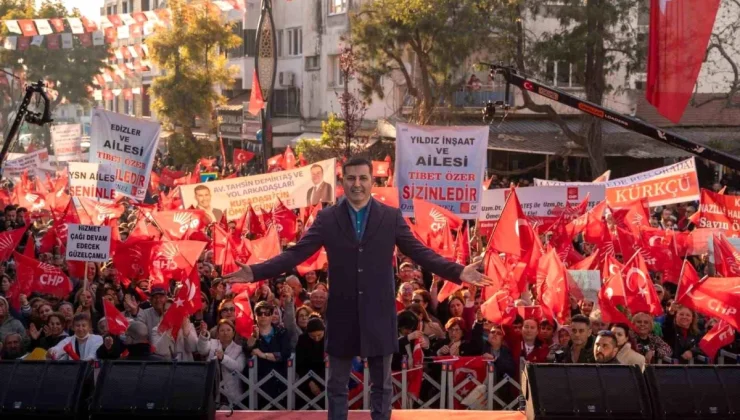
[[[96,108],[89,160],[113,167],[118,194],[143,201],[161,130],[159,123]]]

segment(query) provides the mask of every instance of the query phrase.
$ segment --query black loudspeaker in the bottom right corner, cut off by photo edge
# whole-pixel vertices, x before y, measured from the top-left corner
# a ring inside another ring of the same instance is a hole
[[[740,366],[650,365],[645,378],[655,419],[740,418]]]

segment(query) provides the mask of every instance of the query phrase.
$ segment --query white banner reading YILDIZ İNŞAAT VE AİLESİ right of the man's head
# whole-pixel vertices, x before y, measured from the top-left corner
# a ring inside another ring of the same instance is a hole
[[[478,217],[489,129],[486,126],[396,125],[394,177],[399,205],[414,215],[414,199],[462,219]]]

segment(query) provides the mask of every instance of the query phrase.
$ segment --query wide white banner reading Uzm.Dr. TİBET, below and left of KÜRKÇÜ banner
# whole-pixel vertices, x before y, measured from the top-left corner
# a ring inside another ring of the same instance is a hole
[[[490,232],[501,217],[509,188],[483,191],[478,221],[482,234]],[[520,187],[516,189],[522,211],[531,221],[542,224],[554,222],[566,206],[575,207],[588,196],[588,209],[603,201],[606,187],[603,184],[559,185],[547,187]]]

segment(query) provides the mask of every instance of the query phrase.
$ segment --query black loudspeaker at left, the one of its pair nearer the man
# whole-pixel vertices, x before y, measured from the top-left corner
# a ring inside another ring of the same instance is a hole
[[[206,362],[107,361],[98,376],[92,420],[171,417],[213,420],[218,365]]]

